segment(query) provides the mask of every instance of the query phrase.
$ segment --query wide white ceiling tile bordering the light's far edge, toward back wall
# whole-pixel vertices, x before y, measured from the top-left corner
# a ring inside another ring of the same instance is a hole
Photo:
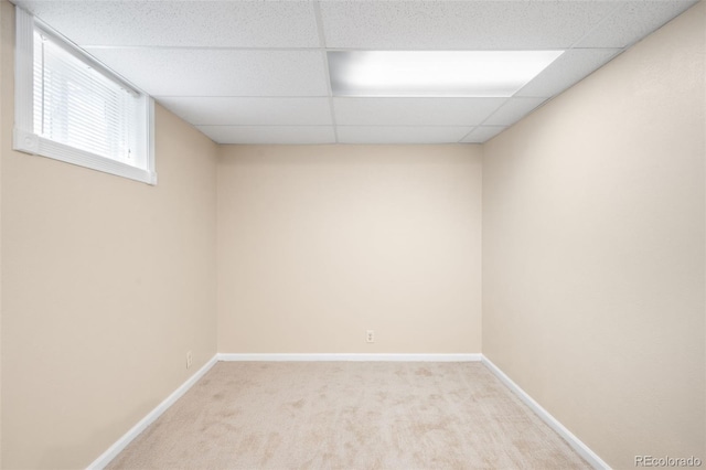
[[[506,98],[334,98],[339,125],[475,126]]]

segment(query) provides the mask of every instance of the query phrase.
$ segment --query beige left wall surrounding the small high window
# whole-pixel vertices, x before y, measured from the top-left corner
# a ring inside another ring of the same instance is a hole
[[[7,52],[2,468],[85,468],[216,352],[216,146],[158,107],[157,186],[11,151]]]

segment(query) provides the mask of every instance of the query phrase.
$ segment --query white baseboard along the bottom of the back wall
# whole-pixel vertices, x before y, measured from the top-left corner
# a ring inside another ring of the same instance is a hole
[[[482,354],[266,354],[266,353],[220,353],[218,361],[260,361],[260,362],[479,362]]]

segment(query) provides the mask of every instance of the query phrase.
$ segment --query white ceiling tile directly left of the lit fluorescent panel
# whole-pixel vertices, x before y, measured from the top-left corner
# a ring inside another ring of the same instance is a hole
[[[154,96],[327,96],[319,51],[89,49]]]

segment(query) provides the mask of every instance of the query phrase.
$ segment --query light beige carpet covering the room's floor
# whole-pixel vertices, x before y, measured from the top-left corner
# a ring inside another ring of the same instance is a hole
[[[220,362],[108,469],[588,469],[480,363]]]

